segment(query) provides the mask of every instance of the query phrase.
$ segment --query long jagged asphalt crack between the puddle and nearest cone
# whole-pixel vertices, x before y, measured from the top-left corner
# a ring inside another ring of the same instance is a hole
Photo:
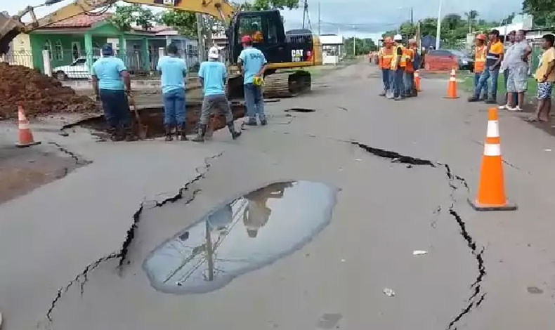
[[[420,159],[420,158],[405,156],[405,155],[399,154],[398,152],[370,147],[369,145],[358,143],[356,141],[350,141],[350,143],[353,145],[357,145],[363,150],[366,150],[367,152],[370,152],[371,154],[374,154],[378,157],[391,159],[392,162],[398,162],[398,163],[410,164],[410,165],[419,165],[419,166],[431,166],[433,168],[437,168],[437,166],[443,166],[443,168],[445,169],[445,175],[448,178],[448,185],[451,190],[450,192],[451,205],[449,207],[449,214],[450,216],[455,218],[457,225],[459,225],[459,234],[466,241],[466,244],[471,250],[472,255],[474,256],[474,258],[476,258],[476,263],[478,263],[478,276],[476,277],[476,281],[470,286],[470,288],[472,289],[472,294],[469,298],[469,303],[465,306],[465,308],[462,309],[461,312],[459,312],[459,314],[457,314],[452,319],[452,321],[447,326],[447,330],[457,330],[457,328],[454,327],[455,324],[457,324],[457,322],[459,322],[462,319],[462,317],[464,317],[466,314],[471,312],[473,308],[474,309],[478,308],[485,300],[485,295],[486,295],[486,293],[483,293],[482,286],[481,286],[481,282],[483,281],[486,275],[485,263],[483,259],[483,253],[485,249],[482,248],[480,251],[478,251],[476,240],[474,240],[474,238],[470,235],[469,231],[466,229],[466,223],[464,222],[464,219],[455,210],[455,204],[457,203],[457,199],[455,198],[455,192],[457,191],[457,189],[459,189],[459,186],[457,184],[464,185],[464,187],[466,187],[467,192],[470,192],[468,183],[461,176],[457,176],[455,175],[455,173],[452,173],[450,166],[448,164],[442,164],[440,162],[431,161],[428,159]],[[407,168],[409,166],[407,166]],[[441,211],[441,207],[438,206],[438,209],[433,213],[439,214],[440,211]],[[436,222],[434,221],[432,223],[432,227],[435,227],[435,224]]]

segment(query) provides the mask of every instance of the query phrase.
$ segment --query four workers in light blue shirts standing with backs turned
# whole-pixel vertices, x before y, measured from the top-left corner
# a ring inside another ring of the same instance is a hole
[[[249,35],[242,37],[241,42],[243,50],[237,60],[237,66],[244,77],[244,97],[249,117],[246,124],[257,125],[256,117],[258,117],[261,125],[266,125],[263,103],[263,75],[266,71],[266,58],[259,49],[252,46],[253,39]],[[127,72],[124,62],[114,56],[110,44],[103,46],[101,52],[102,58],[98,59],[92,67],[92,84],[96,99],[100,100],[103,105],[110,138],[114,141],[137,140],[133,133],[129,114],[129,98],[133,97],[129,72]],[[179,57],[175,44],[169,44],[166,53],[167,55],[159,58],[157,63],[157,71],[162,74],[165,140],[173,140],[174,129],[176,138],[188,140],[185,131],[187,65],[185,60]],[[226,96],[228,70],[219,58],[218,48],[212,47],[209,50],[208,60],[200,65],[198,75],[204,99],[197,136],[192,139],[195,142],[204,142],[210,115],[216,109],[226,117],[226,124],[232,138],[235,140],[241,135],[240,131],[235,131],[233,114]]]

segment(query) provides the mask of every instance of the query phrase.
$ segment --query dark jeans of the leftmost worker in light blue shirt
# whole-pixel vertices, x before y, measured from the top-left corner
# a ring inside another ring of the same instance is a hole
[[[100,101],[104,109],[104,117],[110,128],[131,127],[129,103],[123,90],[100,89]]]

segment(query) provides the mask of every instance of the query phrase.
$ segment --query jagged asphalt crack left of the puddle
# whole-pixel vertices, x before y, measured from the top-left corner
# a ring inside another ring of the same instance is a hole
[[[52,143],[52,144],[57,145],[56,143]],[[220,152],[218,154],[215,154],[214,156],[205,158],[204,159],[204,164],[205,165],[202,166],[202,168],[197,167],[195,169],[195,172],[197,173],[197,176],[195,176],[195,178],[192,178],[192,180],[189,180],[187,183],[185,183],[185,185],[183,185],[183,187],[181,187],[179,189],[177,194],[175,194],[174,196],[168,197],[166,199],[163,199],[161,202],[156,202],[155,206],[153,206],[153,207],[161,207],[161,206],[164,206],[167,203],[174,203],[174,202],[177,202],[179,199],[182,199],[183,196],[184,196],[184,193],[186,191],[190,190],[190,186],[193,183],[196,183],[197,181],[199,181],[200,179],[202,179],[206,176],[207,172],[209,171],[209,169],[211,167],[211,164],[209,163],[209,160],[221,157],[222,154],[223,154],[223,152]],[[76,157],[77,157],[77,155],[76,155]],[[190,204],[191,202],[193,202],[193,200],[197,197],[197,194],[200,191],[201,191],[200,189],[193,190],[192,194],[191,194],[191,197],[185,201],[185,205]],[[46,319],[48,319],[49,322],[52,322],[52,312],[53,312],[54,308],[56,307],[58,301],[60,301],[60,298],[62,298],[63,294],[66,293],[74,284],[76,284],[76,283],[80,284],[81,296],[83,296],[85,284],[89,280],[89,277],[88,277],[89,273],[92,272],[93,270],[95,270],[96,268],[98,268],[98,266],[101,263],[104,263],[105,261],[112,260],[112,259],[115,259],[115,258],[119,258],[119,267],[121,268],[122,265],[124,265],[127,253],[129,252],[129,246],[131,245],[131,242],[133,242],[133,238],[135,237],[136,229],[138,228],[138,223],[141,220],[141,213],[143,213],[144,205],[145,205],[145,202],[141,202],[137,211],[135,211],[135,213],[133,213],[133,223],[131,224],[131,227],[129,227],[129,230],[127,230],[125,240],[122,243],[122,249],[120,249],[119,252],[110,253],[110,255],[104,256],[102,258],[99,258],[98,260],[95,260],[93,263],[90,263],[89,265],[87,265],[84,268],[84,270],[82,272],[79,272],[79,274],[77,274],[77,276],[74,277],[74,279],[72,279],[67,285],[62,286],[60,289],[58,289],[58,293],[56,293],[56,296],[53,299],[53,301],[51,302],[50,307],[46,311]]]

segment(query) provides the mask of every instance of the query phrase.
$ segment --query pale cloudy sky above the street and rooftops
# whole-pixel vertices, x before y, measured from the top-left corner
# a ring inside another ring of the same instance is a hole
[[[1,0],[0,11],[8,11],[11,15],[27,5],[37,6],[44,0],[9,1]],[[237,1],[237,0],[236,0]],[[239,0],[243,1],[243,0]],[[302,2],[303,0],[301,0]],[[308,0],[309,18],[314,32],[318,32],[318,3],[320,3],[321,32],[335,33],[344,37],[381,37],[381,33],[395,29],[401,22],[409,20],[410,8],[413,9],[414,20],[427,17],[437,17],[440,0]],[[65,0],[60,4],[68,4]],[[58,8],[60,5],[37,9],[37,15],[42,17]],[[459,13],[474,9],[479,18],[485,20],[501,20],[512,12],[519,13],[522,0],[443,0],[442,16],[448,13]],[[302,27],[302,8],[293,11],[283,11],[286,29]],[[305,25],[308,26],[308,20]]]

